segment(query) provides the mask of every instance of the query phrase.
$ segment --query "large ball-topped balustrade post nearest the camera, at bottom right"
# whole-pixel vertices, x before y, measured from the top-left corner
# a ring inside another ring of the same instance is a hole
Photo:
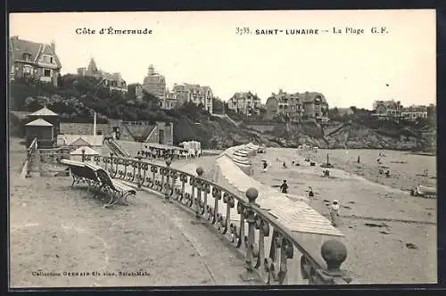
[[[319,270],[316,283],[312,284],[350,284],[351,276],[341,269],[347,259],[347,248],[336,240],[326,241],[320,249],[322,258],[326,261],[326,269]]]

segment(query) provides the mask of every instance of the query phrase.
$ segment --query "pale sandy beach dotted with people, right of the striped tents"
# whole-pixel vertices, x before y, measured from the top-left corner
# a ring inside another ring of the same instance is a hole
[[[258,154],[252,160],[252,177],[272,186],[286,179],[289,193],[296,195],[308,196],[311,186],[315,197],[310,205],[327,218],[328,206],[338,200],[342,222],[338,228],[346,236],[349,251],[343,268],[348,269],[359,284],[436,283],[436,200],[413,197],[397,189],[407,186],[410,178],[414,182],[416,173],[412,171],[407,178],[389,178],[385,181],[387,185],[341,169],[329,169],[330,177],[322,177],[324,169],[319,167],[321,162],[318,161],[323,161],[326,153],[319,150],[317,154],[318,157],[311,158],[317,166],[310,167],[310,163],[304,161],[306,155],[296,149],[268,148],[265,154]],[[352,157],[356,160],[357,156]],[[412,158],[419,157],[406,154],[402,158],[410,163]],[[392,154],[392,159],[398,160],[396,153]],[[267,173],[261,172],[261,160],[268,161]],[[301,166],[292,166],[293,160],[299,161]],[[282,168],[283,161],[286,169]],[[361,161],[366,172],[373,171],[373,162],[368,167],[365,156],[361,156]],[[338,156],[330,162],[335,163],[336,168],[354,167],[351,158],[343,160]],[[403,174],[402,169],[398,174]]]

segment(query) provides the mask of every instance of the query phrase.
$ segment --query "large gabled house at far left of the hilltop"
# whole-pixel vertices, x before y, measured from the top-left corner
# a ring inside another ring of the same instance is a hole
[[[20,39],[9,39],[10,80],[33,78],[57,86],[62,64],[55,53],[55,44],[37,43]]]

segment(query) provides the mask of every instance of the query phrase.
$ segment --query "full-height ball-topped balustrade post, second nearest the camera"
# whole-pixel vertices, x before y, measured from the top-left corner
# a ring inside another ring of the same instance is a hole
[[[254,270],[252,266],[253,246],[254,246],[254,230],[256,225],[255,212],[252,210],[252,206],[255,204],[255,200],[259,196],[259,192],[255,188],[249,188],[246,190],[246,197],[249,203],[245,206],[245,220],[248,222],[248,243],[246,245],[246,271],[241,275],[244,282],[257,282],[260,281],[260,275]]]

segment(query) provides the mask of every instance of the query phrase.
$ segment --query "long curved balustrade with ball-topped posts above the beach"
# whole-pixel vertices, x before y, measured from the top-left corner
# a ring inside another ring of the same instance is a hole
[[[314,250],[262,210],[256,203],[257,189],[244,196],[231,193],[196,175],[148,161],[111,156],[85,156],[107,169],[111,177],[163,194],[166,201],[178,202],[194,210],[195,222],[209,224],[245,256],[245,281],[265,284],[349,284],[351,278],[341,269],[347,258],[343,243],[328,238]],[[216,255],[218,256],[218,255]]]

